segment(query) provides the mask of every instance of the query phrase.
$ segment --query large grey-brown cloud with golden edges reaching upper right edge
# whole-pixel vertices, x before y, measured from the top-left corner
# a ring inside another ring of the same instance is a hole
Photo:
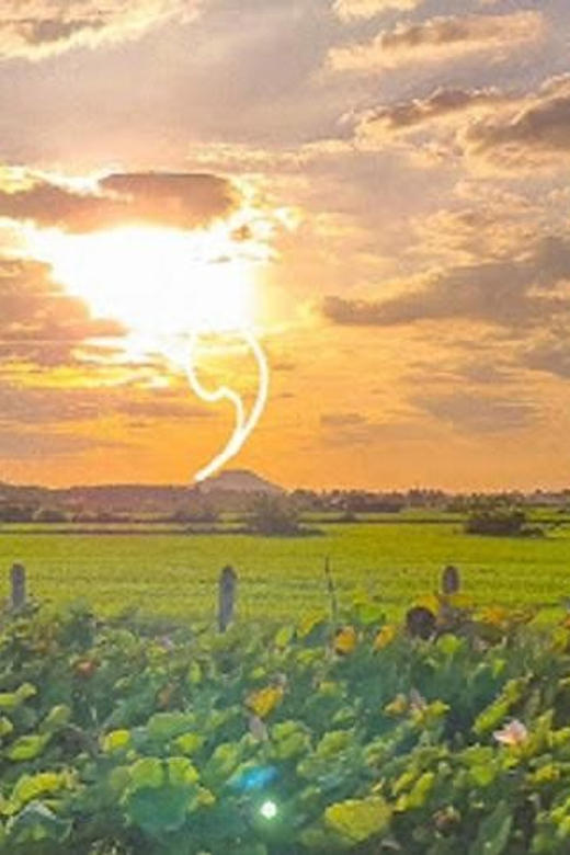
[[[438,88],[346,118],[361,150],[392,147],[431,166],[463,159],[474,174],[555,172],[570,156],[570,75],[527,93]]]

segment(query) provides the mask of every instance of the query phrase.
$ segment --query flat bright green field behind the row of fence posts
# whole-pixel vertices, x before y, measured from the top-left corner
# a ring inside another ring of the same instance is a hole
[[[175,618],[214,614],[216,580],[231,563],[239,572],[243,619],[289,619],[327,607],[327,556],[341,604],[367,590],[400,614],[414,597],[437,588],[442,567],[463,571],[476,602],[536,604],[561,614],[570,595],[570,527],[542,539],[465,535],[460,522],[321,525],[321,536],[262,538],[192,535],[141,528],[140,534],[52,533],[11,527],[0,532],[3,595],[8,570],[26,566],[32,594],[56,605],[88,600],[103,614],[137,606]],[[556,609],[556,611],[555,611]]]

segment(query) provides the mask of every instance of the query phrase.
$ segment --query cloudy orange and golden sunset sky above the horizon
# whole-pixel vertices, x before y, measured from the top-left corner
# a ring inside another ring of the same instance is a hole
[[[0,480],[568,486],[568,0],[3,0]],[[204,400],[189,385],[189,362]]]

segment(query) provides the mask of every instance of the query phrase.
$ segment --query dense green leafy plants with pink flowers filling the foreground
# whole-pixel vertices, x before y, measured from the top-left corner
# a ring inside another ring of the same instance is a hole
[[[0,853],[566,855],[568,628],[430,603],[423,639],[375,602],[225,636],[5,618]]]

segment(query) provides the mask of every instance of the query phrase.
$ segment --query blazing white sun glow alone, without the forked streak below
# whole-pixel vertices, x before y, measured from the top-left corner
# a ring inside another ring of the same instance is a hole
[[[251,329],[255,266],[228,230],[125,227],[31,237],[35,258],[95,317],[142,337]]]

